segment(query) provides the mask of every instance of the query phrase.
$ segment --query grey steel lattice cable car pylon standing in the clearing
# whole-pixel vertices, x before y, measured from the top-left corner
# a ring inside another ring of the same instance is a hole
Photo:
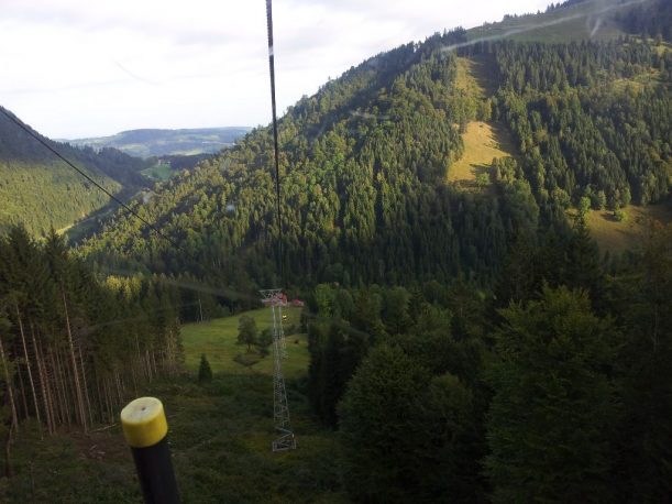
[[[283,331],[283,306],[287,306],[287,298],[282,288],[260,291],[264,305],[271,307],[273,316],[273,419],[279,437],[273,441],[273,451],[293,450],[296,439],[289,423],[289,405],[287,391],[283,376],[283,359],[287,358],[285,331]]]

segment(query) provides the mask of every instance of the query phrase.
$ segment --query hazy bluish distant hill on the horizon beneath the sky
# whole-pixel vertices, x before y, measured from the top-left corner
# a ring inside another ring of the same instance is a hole
[[[65,140],[73,145],[91,147],[114,147],[126,154],[139,157],[164,155],[213,154],[234,142],[250,131],[250,128],[198,128],[183,130],[130,130],[112,136]]]

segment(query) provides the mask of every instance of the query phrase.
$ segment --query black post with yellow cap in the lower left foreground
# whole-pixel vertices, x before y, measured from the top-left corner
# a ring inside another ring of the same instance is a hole
[[[147,504],[177,504],[177,482],[168,447],[168,423],[163,404],[140,397],[121,410],[121,426],[133,452],[137,478]]]

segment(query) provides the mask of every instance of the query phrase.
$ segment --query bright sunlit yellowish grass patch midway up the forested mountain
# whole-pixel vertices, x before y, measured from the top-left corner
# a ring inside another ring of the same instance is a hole
[[[493,158],[508,157],[513,142],[502,124],[472,121],[462,135],[464,155],[448,168],[448,182],[463,189],[475,189],[476,177],[487,174]]]

